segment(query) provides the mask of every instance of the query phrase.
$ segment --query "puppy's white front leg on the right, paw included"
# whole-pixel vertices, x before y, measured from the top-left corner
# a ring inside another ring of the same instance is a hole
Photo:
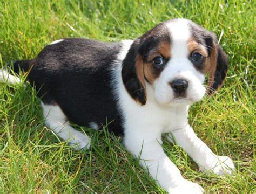
[[[232,160],[227,156],[215,155],[207,145],[187,125],[185,128],[172,131],[176,142],[181,145],[187,154],[199,165],[200,171],[212,171],[215,174],[232,174],[235,169]]]

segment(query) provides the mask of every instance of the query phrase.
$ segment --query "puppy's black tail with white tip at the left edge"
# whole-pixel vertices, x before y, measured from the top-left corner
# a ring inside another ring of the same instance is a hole
[[[29,71],[31,60],[17,60],[10,63],[7,67],[0,69],[0,82],[10,85],[17,85],[22,82],[18,77],[19,73]]]

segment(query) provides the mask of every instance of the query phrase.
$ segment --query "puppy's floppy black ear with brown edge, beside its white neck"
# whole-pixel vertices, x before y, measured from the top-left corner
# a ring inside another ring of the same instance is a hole
[[[146,85],[143,72],[143,57],[134,41],[122,64],[122,80],[126,91],[141,105],[146,103]]]

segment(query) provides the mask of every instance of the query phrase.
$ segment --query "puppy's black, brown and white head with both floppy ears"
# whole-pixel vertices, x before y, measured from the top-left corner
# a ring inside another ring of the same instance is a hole
[[[134,40],[123,60],[122,79],[127,92],[142,105],[147,89],[162,105],[190,105],[223,85],[227,67],[214,33],[190,20],[173,19]]]

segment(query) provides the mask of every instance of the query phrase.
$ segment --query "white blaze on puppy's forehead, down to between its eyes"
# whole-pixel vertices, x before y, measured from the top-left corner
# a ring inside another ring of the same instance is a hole
[[[172,40],[171,58],[184,58],[187,56],[187,41],[190,39],[190,30],[188,26],[188,20],[177,19],[166,23]]]

